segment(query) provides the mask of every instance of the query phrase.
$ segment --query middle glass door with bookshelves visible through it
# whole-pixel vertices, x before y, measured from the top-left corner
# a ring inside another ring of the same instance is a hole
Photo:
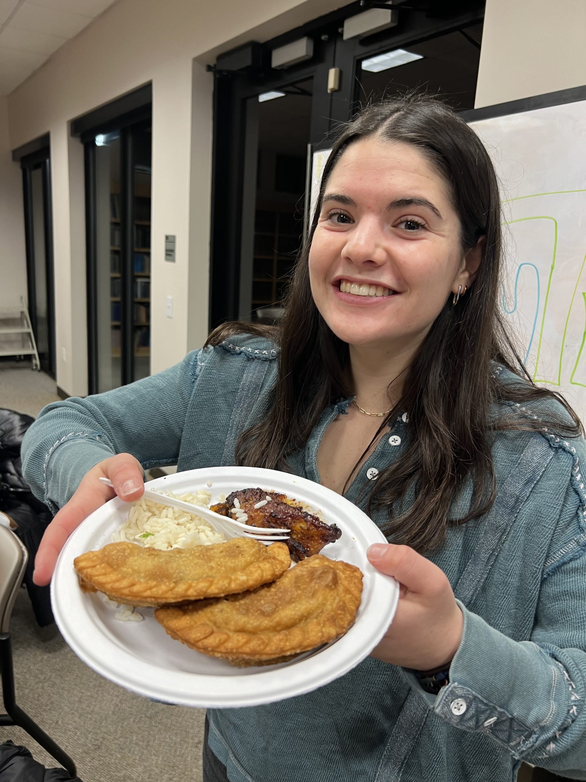
[[[145,378],[151,335],[151,127],[85,140],[89,386]]]

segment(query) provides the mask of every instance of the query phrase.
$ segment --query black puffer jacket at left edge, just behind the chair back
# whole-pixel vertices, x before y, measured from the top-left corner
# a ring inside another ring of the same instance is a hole
[[[51,624],[53,615],[48,587],[33,583],[34,557],[41,537],[52,519],[51,511],[42,504],[23,479],[20,445],[24,432],[34,421],[30,415],[0,408],[0,511],[4,511],[18,525],[16,534],[28,551],[27,585],[34,615],[41,627]]]

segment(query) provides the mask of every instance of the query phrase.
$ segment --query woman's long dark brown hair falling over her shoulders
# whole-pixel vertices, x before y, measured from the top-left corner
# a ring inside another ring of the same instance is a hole
[[[313,302],[308,258],[332,170],[348,146],[370,136],[412,144],[438,170],[459,215],[463,252],[484,237],[483,260],[472,289],[456,307],[451,296],[445,303],[404,373],[401,399],[379,429],[406,411],[407,450],[382,469],[376,481],[363,486],[363,491],[370,488],[368,512],[375,507],[388,511],[384,533],[423,553],[444,542],[448,525],[483,515],[495,501],[491,430],[538,430],[547,425],[565,436],[583,433],[562,396],[534,385],[507,332],[497,306],[502,221],[498,181],[484,145],[461,117],[436,99],[406,95],[369,106],[348,123],[323,171],[309,239],[298,257],[280,328],[224,324],[208,343],[217,344],[237,332],[269,336],[278,343],[273,406],[261,423],[241,434],[236,457],[239,465],[287,471],[288,457],[305,447],[323,410],[353,394],[346,371],[348,344],[331,332]],[[519,382],[503,382],[493,362],[513,371]],[[538,418],[508,414],[489,422],[489,408],[495,402],[552,397],[570,418],[550,409]],[[450,508],[466,478],[473,484],[470,510],[451,520]],[[415,500],[405,510],[409,489]]]

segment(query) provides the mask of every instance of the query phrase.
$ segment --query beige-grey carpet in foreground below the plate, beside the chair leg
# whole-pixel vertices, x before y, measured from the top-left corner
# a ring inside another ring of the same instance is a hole
[[[153,703],[102,679],[55,625],[39,630],[25,590],[10,632],[16,702],[71,755],[83,782],[201,782],[204,711]],[[8,739],[48,768],[59,765],[20,728],[0,726],[0,743]]]

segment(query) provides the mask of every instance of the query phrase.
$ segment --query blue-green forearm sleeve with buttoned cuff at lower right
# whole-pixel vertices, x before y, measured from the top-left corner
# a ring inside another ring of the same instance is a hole
[[[586,532],[570,482],[531,640],[495,630],[462,603],[463,637],[438,696],[407,678],[446,722],[490,736],[517,759],[586,780]]]

